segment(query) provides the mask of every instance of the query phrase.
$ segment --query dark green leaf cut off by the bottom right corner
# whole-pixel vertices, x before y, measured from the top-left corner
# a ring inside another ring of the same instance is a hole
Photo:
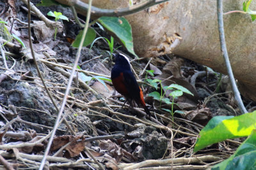
[[[252,131],[252,134],[237,148],[234,155],[213,166],[212,169],[256,169],[256,131]]]

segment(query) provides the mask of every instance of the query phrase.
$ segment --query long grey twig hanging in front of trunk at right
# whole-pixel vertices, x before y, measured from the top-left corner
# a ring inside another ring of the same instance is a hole
[[[219,33],[220,33],[220,45],[221,45],[221,52],[223,54],[223,59],[225,60],[225,64],[227,67],[228,77],[230,79],[231,87],[235,96],[235,99],[237,101],[237,105],[239,106],[239,109],[241,110],[241,113],[247,113],[246,108],[244,108],[243,101],[240,96],[240,92],[237,89],[236,86],[236,80],[234,78],[234,74],[232,72],[232,67],[230,65],[230,61],[228,59],[228,52],[225,42],[225,33],[224,33],[224,26],[223,26],[223,5],[222,0],[217,0],[217,14],[218,14],[218,27],[219,27]]]

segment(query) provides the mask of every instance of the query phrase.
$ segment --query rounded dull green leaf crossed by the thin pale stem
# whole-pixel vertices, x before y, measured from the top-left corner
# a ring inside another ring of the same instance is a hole
[[[83,35],[83,31],[79,31],[78,35],[76,36],[75,41],[72,43],[73,47],[78,48],[79,43],[82,39],[82,35]],[[85,36],[85,39],[84,39],[84,42],[83,42],[83,46],[90,45],[90,43],[92,43],[92,41],[95,39],[95,37],[96,37],[96,33],[95,33],[94,29],[89,27],[88,31],[86,32],[86,36]]]

